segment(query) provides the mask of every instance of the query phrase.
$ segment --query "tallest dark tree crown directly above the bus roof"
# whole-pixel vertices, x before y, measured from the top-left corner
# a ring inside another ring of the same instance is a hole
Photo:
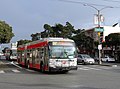
[[[75,32],[74,26],[72,26],[69,22],[66,22],[65,26],[63,26],[62,24],[55,24],[55,26],[45,24],[44,29],[45,31],[43,31],[42,34],[44,36],[48,34],[48,37],[71,38],[73,33]]]

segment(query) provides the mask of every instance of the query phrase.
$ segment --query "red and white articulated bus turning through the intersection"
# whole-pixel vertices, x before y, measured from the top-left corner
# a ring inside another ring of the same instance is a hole
[[[77,51],[73,40],[42,38],[17,48],[18,64],[42,72],[77,70]]]

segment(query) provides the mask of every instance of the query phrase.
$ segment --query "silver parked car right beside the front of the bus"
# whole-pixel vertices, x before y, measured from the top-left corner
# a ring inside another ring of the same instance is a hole
[[[95,60],[87,54],[78,54],[77,63],[94,64]]]

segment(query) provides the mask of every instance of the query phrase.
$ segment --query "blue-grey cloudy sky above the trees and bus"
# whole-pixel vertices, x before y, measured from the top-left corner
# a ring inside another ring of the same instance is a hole
[[[105,18],[103,25],[120,22],[119,0],[0,0],[0,20],[8,23],[15,34],[11,42],[30,40],[31,34],[44,30],[44,24],[70,22],[75,29],[92,28],[98,10]]]

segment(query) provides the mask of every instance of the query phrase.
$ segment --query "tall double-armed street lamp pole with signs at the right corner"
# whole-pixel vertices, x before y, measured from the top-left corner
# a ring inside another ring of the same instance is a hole
[[[101,22],[100,11],[102,11],[103,9],[106,9],[106,8],[113,8],[111,6],[105,6],[105,7],[101,8],[101,9],[98,9],[98,8],[92,6],[92,5],[89,5],[89,4],[84,4],[84,6],[89,6],[89,7],[92,7],[93,9],[97,10],[97,22],[98,22],[97,25],[98,25],[99,29],[100,29],[100,22]],[[99,34],[98,35],[98,40],[99,40],[99,45],[98,46],[101,46],[101,44],[100,44],[100,31],[98,31],[98,34]],[[98,47],[98,48],[101,49],[101,47]],[[101,62],[101,50],[100,49],[99,49],[99,64],[102,64],[102,62]]]

